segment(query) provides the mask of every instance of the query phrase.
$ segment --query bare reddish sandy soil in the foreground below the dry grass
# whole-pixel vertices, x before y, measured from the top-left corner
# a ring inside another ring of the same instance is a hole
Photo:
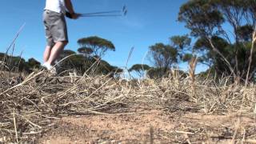
[[[40,143],[254,143],[253,114],[205,115],[200,112],[143,110],[138,114],[67,116]],[[239,140],[238,140],[239,139]]]

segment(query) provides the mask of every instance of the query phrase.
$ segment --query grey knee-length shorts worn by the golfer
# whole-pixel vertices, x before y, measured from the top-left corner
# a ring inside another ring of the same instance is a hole
[[[43,23],[46,29],[47,46],[54,46],[56,42],[68,42],[64,14],[45,10],[43,13]]]

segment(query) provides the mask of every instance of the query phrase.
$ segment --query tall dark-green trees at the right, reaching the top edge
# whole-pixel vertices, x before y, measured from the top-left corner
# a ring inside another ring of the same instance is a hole
[[[183,4],[178,21],[185,22],[198,38],[193,47],[198,62],[214,68],[216,74],[245,78],[256,24],[255,8],[254,0],[190,0]],[[224,23],[231,26],[233,34],[225,30]],[[253,57],[250,78],[256,71],[255,60]]]

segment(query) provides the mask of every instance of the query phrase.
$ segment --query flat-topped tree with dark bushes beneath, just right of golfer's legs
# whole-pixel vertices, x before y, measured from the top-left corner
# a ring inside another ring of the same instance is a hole
[[[97,36],[80,38],[78,40],[79,46],[78,53],[72,50],[64,50],[61,58],[70,56],[62,62],[62,71],[76,70],[80,74],[110,74],[115,76],[121,73],[122,69],[116,66],[111,66],[108,62],[102,60],[102,56],[106,54],[107,50],[115,50],[114,44],[104,38]]]

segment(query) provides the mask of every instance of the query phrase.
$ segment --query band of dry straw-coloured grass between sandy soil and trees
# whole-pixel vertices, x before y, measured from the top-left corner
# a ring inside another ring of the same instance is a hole
[[[173,78],[120,80],[109,76],[26,78],[0,74],[0,143],[36,141],[65,115],[132,113],[136,106],[226,114],[254,110],[255,88],[226,81]],[[193,87],[192,87],[193,86]]]

